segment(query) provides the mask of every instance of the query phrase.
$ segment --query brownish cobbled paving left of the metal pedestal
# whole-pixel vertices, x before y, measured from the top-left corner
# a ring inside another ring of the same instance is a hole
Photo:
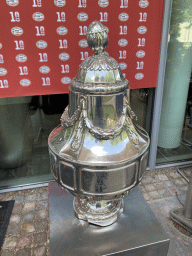
[[[1,256],[49,255],[48,187],[0,194],[15,200]]]

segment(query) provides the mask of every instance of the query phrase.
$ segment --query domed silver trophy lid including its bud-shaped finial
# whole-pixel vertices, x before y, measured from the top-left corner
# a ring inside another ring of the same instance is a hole
[[[89,47],[95,54],[83,61],[72,80],[71,90],[91,94],[111,94],[128,88],[118,62],[104,49],[108,45],[108,28],[98,21],[90,24],[87,32]]]

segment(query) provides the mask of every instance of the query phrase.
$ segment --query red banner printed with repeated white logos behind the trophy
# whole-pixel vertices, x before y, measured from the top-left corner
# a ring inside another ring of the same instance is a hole
[[[2,0],[0,97],[67,93],[92,55],[89,24],[109,28],[106,51],[130,88],[155,87],[163,0]]]

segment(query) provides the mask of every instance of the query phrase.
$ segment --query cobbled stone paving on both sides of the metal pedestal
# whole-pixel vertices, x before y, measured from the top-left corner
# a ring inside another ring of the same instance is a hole
[[[190,175],[190,168],[183,170],[188,176]],[[187,243],[187,248],[191,252],[192,237],[187,231],[174,225],[169,216],[172,205],[182,207],[176,193],[181,203],[184,202],[187,182],[177,173],[176,168],[160,169],[146,172],[139,188],[171,239],[169,256],[189,256],[188,251],[186,251],[186,254],[183,254],[185,250],[182,251],[182,254],[177,254],[174,251],[175,246],[172,242],[174,236],[178,236],[181,245]],[[12,199],[15,200],[15,205],[0,255],[49,255],[48,187],[0,194],[0,200],[2,201]],[[168,206],[166,206],[167,204]],[[159,205],[161,207],[158,208]],[[164,208],[164,205],[166,208]],[[167,230],[167,226],[174,229],[174,232],[172,232],[174,235]],[[179,246],[179,243],[177,243],[177,246]]]

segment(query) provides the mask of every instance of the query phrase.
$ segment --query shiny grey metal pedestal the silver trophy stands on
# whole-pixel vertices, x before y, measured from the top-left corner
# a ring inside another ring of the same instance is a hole
[[[50,256],[165,256],[169,239],[135,187],[117,222],[99,227],[75,217],[73,196],[49,183]]]

